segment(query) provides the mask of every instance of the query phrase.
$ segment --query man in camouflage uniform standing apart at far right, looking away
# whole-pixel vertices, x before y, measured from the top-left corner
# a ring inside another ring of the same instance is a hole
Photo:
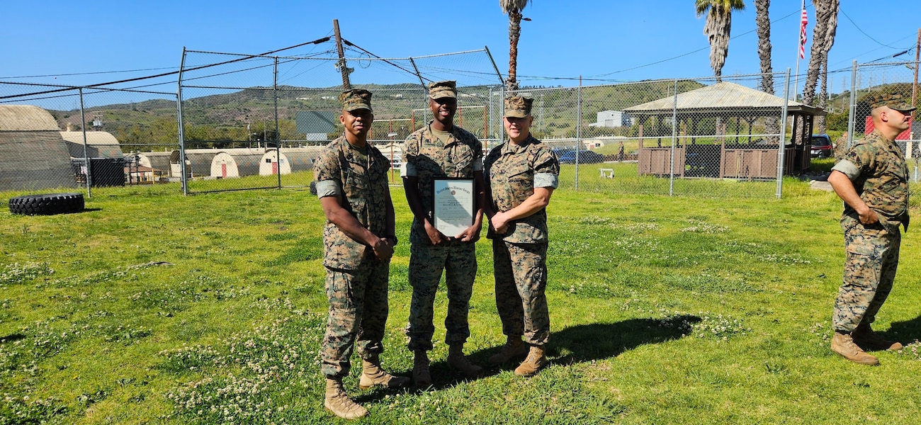
[[[902,235],[908,229],[908,167],[895,136],[908,128],[911,106],[898,96],[871,101],[874,131],[855,142],[828,181],[845,201],[845,272],[834,302],[832,350],[848,360],[879,364],[865,350],[901,350],[870,328],[892,290]]]

